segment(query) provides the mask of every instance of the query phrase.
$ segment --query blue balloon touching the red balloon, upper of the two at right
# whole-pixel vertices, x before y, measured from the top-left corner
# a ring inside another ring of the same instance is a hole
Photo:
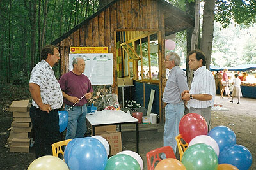
[[[227,145],[236,144],[236,134],[226,126],[217,126],[209,131],[208,136],[211,136],[219,145],[220,152]]]

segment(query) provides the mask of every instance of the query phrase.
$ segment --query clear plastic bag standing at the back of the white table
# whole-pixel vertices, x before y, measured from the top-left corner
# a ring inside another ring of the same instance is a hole
[[[105,110],[120,110],[118,96],[116,94],[106,94],[102,97]]]

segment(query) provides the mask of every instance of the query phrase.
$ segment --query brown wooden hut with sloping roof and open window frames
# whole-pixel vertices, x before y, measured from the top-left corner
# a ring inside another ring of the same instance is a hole
[[[132,99],[147,108],[150,90],[154,89],[152,113],[159,114],[161,121],[161,98],[166,84],[164,39],[193,25],[193,17],[164,0],[113,0],[52,44],[60,48],[61,74],[68,71],[70,47],[108,47],[108,53],[113,53],[112,92],[121,96],[120,90],[118,91],[118,77],[129,76],[134,81],[130,92]],[[151,70],[153,61],[150,48],[157,44],[154,42],[158,43],[155,52],[157,78],[153,78]],[[148,63],[148,77],[143,76],[143,60]]]

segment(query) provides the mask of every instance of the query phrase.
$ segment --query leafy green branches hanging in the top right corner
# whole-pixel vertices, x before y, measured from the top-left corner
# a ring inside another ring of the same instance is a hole
[[[250,26],[256,21],[256,1],[218,0],[215,18],[223,27],[228,27],[232,20],[237,24]]]

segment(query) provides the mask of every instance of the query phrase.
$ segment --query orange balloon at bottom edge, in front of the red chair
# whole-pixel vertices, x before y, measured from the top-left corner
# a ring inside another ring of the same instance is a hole
[[[186,170],[186,167],[177,159],[168,158],[161,160],[155,170]]]

